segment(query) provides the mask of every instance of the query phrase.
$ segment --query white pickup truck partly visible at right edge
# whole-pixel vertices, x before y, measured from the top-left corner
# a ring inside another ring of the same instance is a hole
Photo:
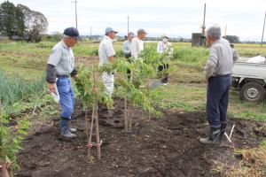
[[[232,70],[232,87],[239,89],[241,98],[261,102],[266,94],[266,64],[247,63],[239,58]]]

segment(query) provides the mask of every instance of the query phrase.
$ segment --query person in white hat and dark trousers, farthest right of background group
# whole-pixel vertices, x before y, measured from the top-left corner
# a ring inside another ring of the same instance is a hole
[[[159,73],[161,73],[160,74],[161,84],[164,86],[167,86],[168,84],[168,72],[167,72],[169,68],[168,60],[170,59],[174,51],[172,43],[168,42],[168,40],[169,40],[168,35],[161,35],[161,41],[158,42],[157,45],[157,52],[160,55],[160,60],[164,57],[164,60],[161,61],[162,64],[158,66]]]

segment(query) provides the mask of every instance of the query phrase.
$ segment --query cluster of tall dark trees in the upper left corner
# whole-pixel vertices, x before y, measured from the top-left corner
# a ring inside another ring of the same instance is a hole
[[[43,13],[23,4],[15,6],[9,1],[0,4],[0,35],[7,35],[12,40],[40,42],[47,29],[48,21]]]

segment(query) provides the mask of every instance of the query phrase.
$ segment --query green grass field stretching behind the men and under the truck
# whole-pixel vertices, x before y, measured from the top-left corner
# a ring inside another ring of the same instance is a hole
[[[20,76],[27,81],[41,79],[46,61],[55,42],[10,42],[0,43],[0,69],[8,75]],[[156,47],[156,43],[145,43],[146,47]],[[115,42],[114,48],[121,54],[121,42]],[[257,44],[236,44],[240,56],[266,55],[266,46]],[[203,66],[208,50],[192,48],[191,43],[174,43],[174,58],[171,61],[170,83],[167,88],[159,87],[152,91],[153,104],[170,110],[204,110],[206,102],[206,83]],[[98,52],[98,43],[80,42],[74,47],[75,58],[90,57]],[[239,99],[239,92],[231,91],[229,113],[241,119],[266,120],[264,104],[250,104]]]

